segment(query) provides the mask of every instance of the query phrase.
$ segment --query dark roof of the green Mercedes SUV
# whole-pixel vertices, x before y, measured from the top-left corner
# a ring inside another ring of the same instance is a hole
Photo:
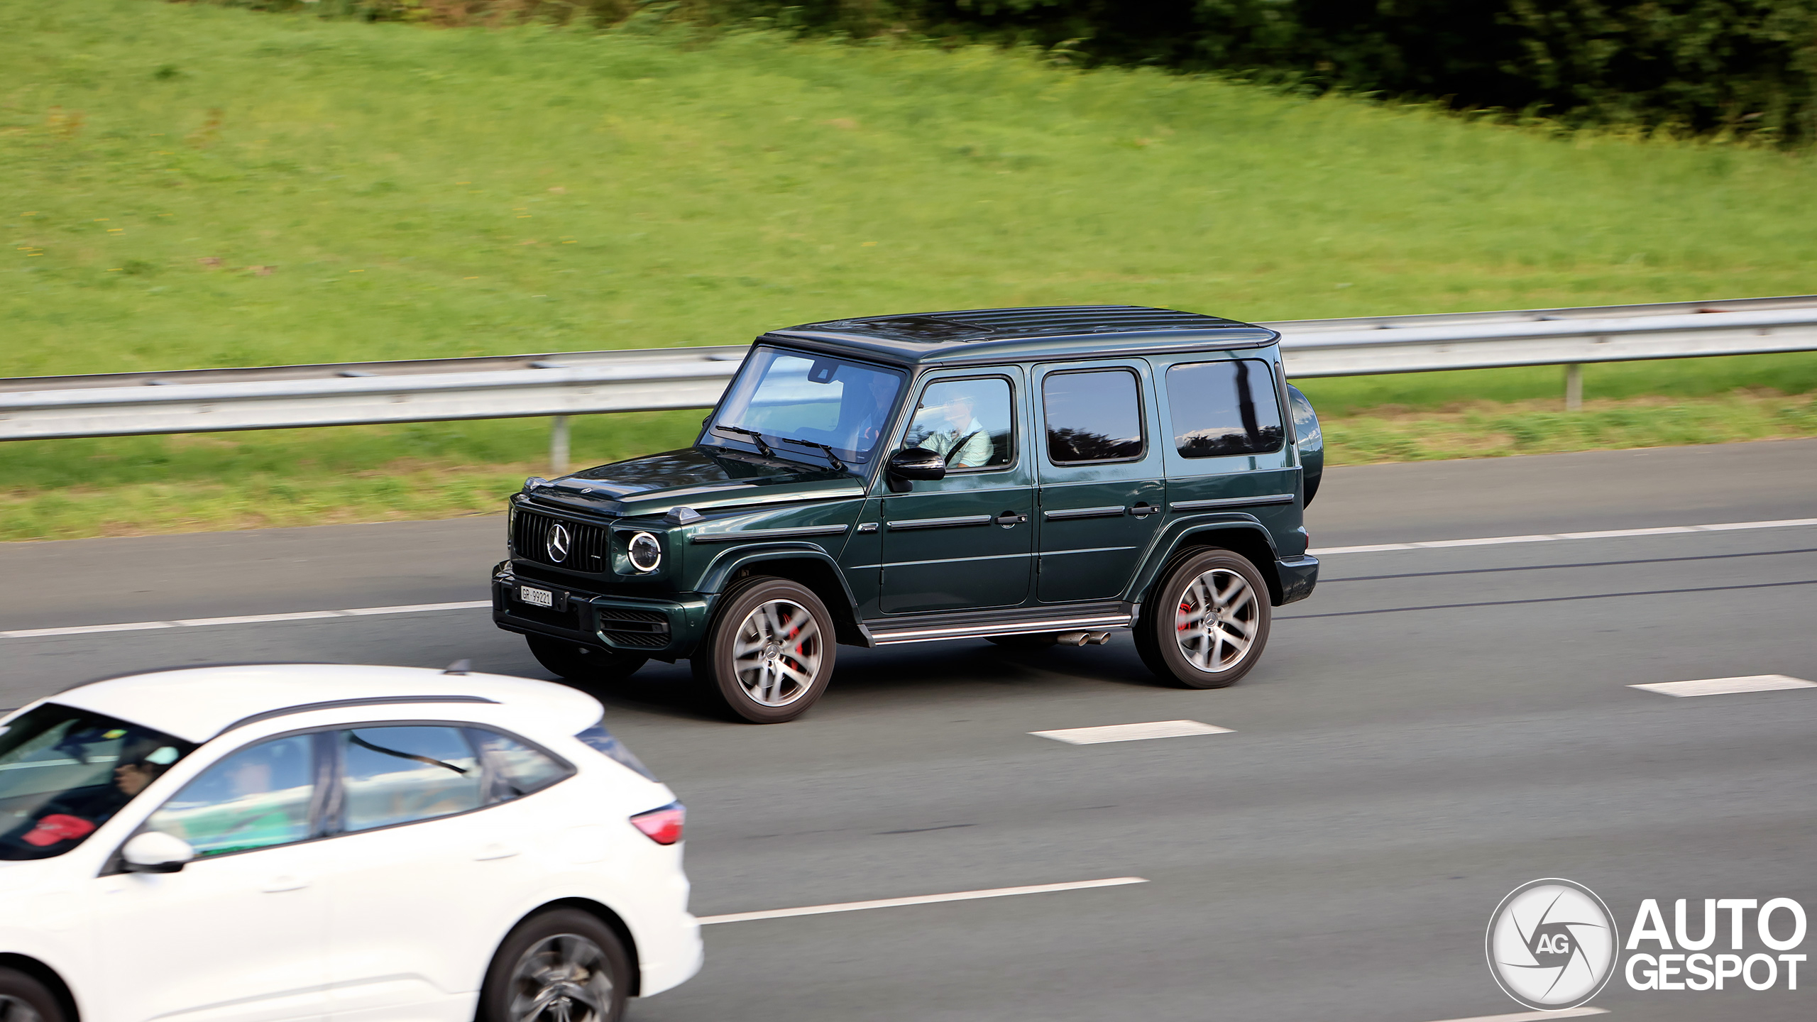
[[[1197,347],[1261,347],[1277,333],[1254,324],[1145,306],[1034,306],[827,320],[761,340],[807,342],[899,364],[1141,355]]]

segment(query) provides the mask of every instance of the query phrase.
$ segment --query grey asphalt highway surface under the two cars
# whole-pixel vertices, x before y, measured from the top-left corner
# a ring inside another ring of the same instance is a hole
[[[1334,471],[1314,546],[1817,516],[1817,442]],[[500,522],[0,546],[0,631],[483,596]],[[1521,1011],[1483,929],[1537,877],[1817,911],[1817,527],[1334,555],[1225,691],[1163,687],[1127,638],[839,651],[781,727],[723,724],[652,664],[609,722],[690,807],[700,915],[1143,877],[1139,886],[707,929],[632,1018],[1397,1020]],[[543,675],[483,609],[0,638],[0,706],[96,675],[354,660]],[[1065,746],[1192,718],[1232,733]],[[1817,929],[1817,920],[1813,920]],[[1810,937],[1801,951],[1817,947]],[[1762,951],[1753,940],[1748,951]],[[1804,987],[1817,987],[1817,975]],[[1817,991],[1637,993],[1612,1018],[1813,1017]]]

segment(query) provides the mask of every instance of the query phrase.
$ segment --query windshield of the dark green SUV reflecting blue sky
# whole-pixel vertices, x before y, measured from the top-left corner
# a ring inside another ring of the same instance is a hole
[[[750,442],[749,429],[778,456],[825,456],[814,444],[834,449],[841,462],[865,464],[889,429],[901,373],[847,362],[830,355],[798,355],[756,347],[740,369],[712,431]],[[799,440],[799,444],[790,444]]]

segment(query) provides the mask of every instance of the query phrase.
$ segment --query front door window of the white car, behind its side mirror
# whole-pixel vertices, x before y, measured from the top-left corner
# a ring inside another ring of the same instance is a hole
[[[309,735],[247,746],[202,771],[145,822],[198,857],[303,840],[311,833],[314,755]]]

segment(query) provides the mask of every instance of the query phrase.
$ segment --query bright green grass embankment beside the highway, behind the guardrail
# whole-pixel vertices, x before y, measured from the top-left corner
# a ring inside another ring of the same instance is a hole
[[[968,306],[1268,320],[1817,289],[1804,156],[987,49],[65,0],[0,5],[0,65],[5,376],[725,344]],[[1523,411],[1555,407],[1555,369],[1306,389],[1337,460],[1817,431],[1802,396],[1723,396],[1804,395],[1810,356],[1586,386],[1624,404]],[[694,422],[580,422],[576,458]],[[536,422],[9,444],[0,538],[489,509],[543,446]]]

